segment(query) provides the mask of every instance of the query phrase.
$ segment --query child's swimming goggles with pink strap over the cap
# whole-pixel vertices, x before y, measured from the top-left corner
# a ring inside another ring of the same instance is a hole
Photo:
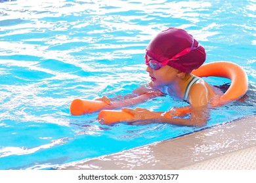
[[[191,37],[192,37],[192,35],[191,35]],[[161,62],[156,59],[150,59],[148,61],[148,57],[145,55],[145,62],[146,62],[146,65],[148,65],[151,69],[158,70],[161,67],[167,65],[170,61],[178,60],[179,57],[188,54],[192,50],[196,50],[196,48],[198,48],[199,46],[200,46],[199,43],[198,43],[198,46],[194,46],[194,38],[192,37],[192,45],[190,46],[190,48],[185,48],[184,50],[182,50],[181,52],[179,52],[178,54],[173,56],[171,59],[167,59],[167,60],[161,61]]]

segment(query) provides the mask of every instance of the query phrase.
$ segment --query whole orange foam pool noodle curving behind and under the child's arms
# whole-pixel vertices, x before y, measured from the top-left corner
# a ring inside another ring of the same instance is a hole
[[[236,101],[247,92],[247,75],[244,69],[235,63],[228,61],[207,63],[192,71],[192,74],[199,77],[217,76],[231,80],[228,90],[226,90],[223,95],[215,97],[210,101],[212,107],[219,107],[232,101]],[[100,110],[98,120],[104,124],[114,124],[133,117],[132,114],[122,110],[101,110],[107,105],[108,104],[103,101],[75,99],[70,105],[70,112],[72,115],[82,115]],[[156,114],[164,115],[168,118],[172,118],[173,116],[184,116],[189,113],[189,107],[176,108],[174,111],[166,113],[156,112]]]

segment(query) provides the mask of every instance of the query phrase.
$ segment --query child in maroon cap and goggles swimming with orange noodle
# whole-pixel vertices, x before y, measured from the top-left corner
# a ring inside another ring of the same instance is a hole
[[[146,47],[146,71],[151,82],[149,87],[141,87],[127,95],[124,101],[111,101],[104,96],[100,100],[109,104],[108,108],[126,107],[141,103],[146,99],[165,94],[186,101],[190,105],[190,118],[167,118],[144,108],[122,108],[133,114],[125,122],[134,124],[169,123],[175,125],[203,126],[209,118],[208,103],[221,95],[202,78],[191,74],[205,61],[205,49],[192,35],[177,28],[161,31]],[[175,110],[173,108],[172,110]],[[173,112],[172,110],[167,111]]]

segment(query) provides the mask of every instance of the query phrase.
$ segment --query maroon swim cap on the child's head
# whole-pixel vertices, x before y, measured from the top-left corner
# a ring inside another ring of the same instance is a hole
[[[188,52],[180,55],[184,49]],[[146,47],[146,54],[160,62],[169,59],[167,65],[184,73],[200,67],[206,58],[205,49],[192,35],[174,27],[158,33]]]

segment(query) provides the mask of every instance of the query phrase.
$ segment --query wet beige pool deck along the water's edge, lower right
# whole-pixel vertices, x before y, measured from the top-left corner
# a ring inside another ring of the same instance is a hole
[[[61,169],[255,170],[256,115]]]

